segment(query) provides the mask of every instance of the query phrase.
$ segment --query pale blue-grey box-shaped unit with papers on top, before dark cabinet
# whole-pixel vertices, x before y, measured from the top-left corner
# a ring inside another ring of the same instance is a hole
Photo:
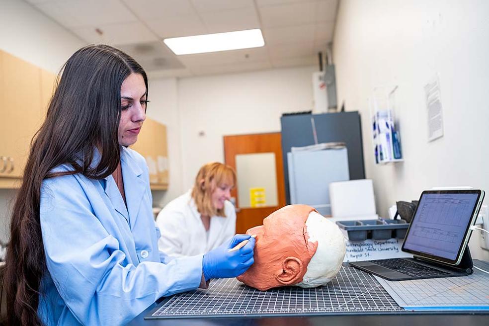
[[[346,147],[287,153],[290,203],[331,215],[329,183],[350,179],[347,154]]]

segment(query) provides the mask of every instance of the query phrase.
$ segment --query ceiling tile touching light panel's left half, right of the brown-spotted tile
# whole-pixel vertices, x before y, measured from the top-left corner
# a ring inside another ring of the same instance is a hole
[[[147,20],[146,24],[162,38],[207,34],[207,28],[196,13]]]

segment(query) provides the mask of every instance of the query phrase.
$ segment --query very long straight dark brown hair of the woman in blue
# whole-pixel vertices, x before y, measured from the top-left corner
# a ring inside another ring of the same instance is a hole
[[[42,181],[75,173],[101,179],[114,172],[121,150],[121,85],[131,73],[141,74],[148,89],[146,73],[134,59],[107,45],[90,45],[68,59],[58,77],[12,210],[3,277],[8,325],[41,324],[39,286],[47,272],[39,220]],[[100,161],[90,166],[95,149]],[[61,164],[71,165],[72,171],[51,173]]]

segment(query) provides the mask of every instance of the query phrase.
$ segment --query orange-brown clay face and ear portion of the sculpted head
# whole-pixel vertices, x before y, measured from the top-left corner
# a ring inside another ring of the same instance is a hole
[[[258,290],[302,282],[318,247],[309,241],[306,226],[315,211],[307,205],[285,206],[246,231],[256,235],[254,263],[238,280]]]

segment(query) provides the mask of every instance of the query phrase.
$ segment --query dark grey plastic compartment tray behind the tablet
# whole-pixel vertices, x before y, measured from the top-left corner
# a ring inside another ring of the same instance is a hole
[[[348,234],[348,240],[404,239],[409,224],[405,220],[354,220],[336,222]]]

